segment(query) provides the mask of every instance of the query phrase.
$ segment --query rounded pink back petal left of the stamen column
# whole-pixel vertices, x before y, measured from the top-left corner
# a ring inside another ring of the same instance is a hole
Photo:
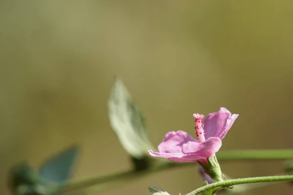
[[[160,153],[181,153],[181,147],[188,141],[198,142],[195,138],[184,131],[168,132],[162,143],[158,146]]]

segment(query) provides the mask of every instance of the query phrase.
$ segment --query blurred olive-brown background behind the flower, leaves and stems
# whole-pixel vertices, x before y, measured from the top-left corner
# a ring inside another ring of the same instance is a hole
[[[111,131],[114,75],[141,108],[150,138],[195,134],[192,114],[239,114],[221,150],[292,148],[291,0],[0,1],[0,194],[7,170],[79,143],[73,178],[131,168]],[[221,163],[231,177],[283,172],[283,162]],[[201,186],[192,166],[100,194],[170,194]],[[288,183],[246,193],[292,193]]]

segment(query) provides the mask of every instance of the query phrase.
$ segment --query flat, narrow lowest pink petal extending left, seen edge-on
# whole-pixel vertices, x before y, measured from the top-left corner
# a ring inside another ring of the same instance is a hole
[[[204,158],[202,156],[185,155],[183,153],[156,153],[156,152],[153,152],[152,150],[149,150],[148,153],[151,156],[163,157],[163,158],[167,158],[168,160],[175,161],[175,162],[195,162],[199,159]]]

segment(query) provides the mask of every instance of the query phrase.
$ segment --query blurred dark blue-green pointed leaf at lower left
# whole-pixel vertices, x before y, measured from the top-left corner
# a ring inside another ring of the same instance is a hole
[[[42,165],[39,172],[40,176],[57,183],[66,181],[73,169],[78,151],[78,146],[73,146],[62,153],[49,158]]]

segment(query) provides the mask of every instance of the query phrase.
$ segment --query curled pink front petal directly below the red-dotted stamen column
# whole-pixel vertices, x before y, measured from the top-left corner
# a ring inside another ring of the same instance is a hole
[[[187,155],[196,155],[202,157],[211,157],[222,146],[222,141],[218,137],[209,137],[205,142],[198,143],[188,141],[182,146],[182,153]]]

